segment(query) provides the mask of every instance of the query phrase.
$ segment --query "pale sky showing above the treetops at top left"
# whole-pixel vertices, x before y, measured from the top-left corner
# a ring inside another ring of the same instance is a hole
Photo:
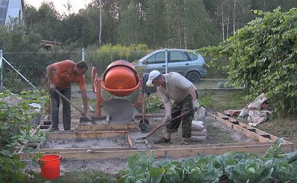
[[[72,5],[71,12],[70,13],[77,13],[79,12],[79,9],[85,8],[88,3],[90,3],[91,0],[25,0],[25,3],[29,5],[33,5],[35,8],[39,8],[41,3],[45,2],[53,2],[53,5],[55,6],[55,9],[57,12],[60,14],[69,14],[69,12],[66,9],[67,2],[69,1],[70,4]]]

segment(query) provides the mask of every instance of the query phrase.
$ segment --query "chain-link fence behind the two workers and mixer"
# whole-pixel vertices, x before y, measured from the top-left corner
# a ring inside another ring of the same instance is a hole
[[[87,89],[91,86],[91,70],[96,66],[98,75],[103,75],[107,66],[116,60],[138,62],[140,58],[151,51],[70,51],[70,52],[19,52],[1,53],[1,90],[11,90],[18,93],[21,90],[46,87],[46,68],[49,64],[61,60],[79,62],[85,60],[89,70],[86,73]],[[208,60],[205,59],[207,62]],[[140,75],[143,70],[136,71]],[[197,88],[216,88],[218,82],[226,82],[227,73],[214,67],[207,67],[207,77],[196,84]],[[74,89],[78,88],[76,86]]]

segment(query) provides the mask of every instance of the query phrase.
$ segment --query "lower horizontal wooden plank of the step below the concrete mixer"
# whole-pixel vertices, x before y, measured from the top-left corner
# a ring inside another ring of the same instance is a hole
[[[74,139],[74,138],[107,138],[115,137],[127,134],[126,131],[95,131],[95,132],[51,132],[49,138],[63,138],[63,139]]]

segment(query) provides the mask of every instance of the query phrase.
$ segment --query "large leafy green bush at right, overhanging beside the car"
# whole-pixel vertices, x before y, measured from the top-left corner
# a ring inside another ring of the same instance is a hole
[[[201,51],[214,58],[211,63],[226,58],[224,69],[230,82],[247,84],[250,97],[266,93],[277,112],[293,114],[297,105],[297,10],[277,8],[258,14],[263,18],[251,21],[217,47]]]

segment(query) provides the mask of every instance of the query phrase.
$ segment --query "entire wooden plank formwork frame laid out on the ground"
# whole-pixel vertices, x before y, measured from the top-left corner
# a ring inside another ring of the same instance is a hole
[[[112,137],[126,134],[126,140],[131,147],[103,147],[103,148],[68,148],[68,149],[38,149],[42,154],[60,154],[63,158],[73,158],[76,160],[105,160],[109,158],[128,158],[133,154],[155,152],[157,158],[181,158],[186,156],[196,156],[196,154],[224,154],[227,151],[246,151],[247,153],[264,154],[267,149],[279,139],[277,136],[263,132],[255,127],[250,127],[246,123],[227,117],[219,112],[214,115],[215,119],[231,127],[233,130],[241,132],[249,138],[255,139],[255,143],[228,143],[228,144],[208,144],[208,145],[172,145],[172,146],[156,146],[150,147],[146,144],[146,148],[138,149],[133,143],[133,139],[129,136],[131,126],[122,125],[111,126],[104,125],[81,125],[81,130],[96,130],[101,131],[81,131],[74,133],[51,133],[50,138],[97,138],[97,137]],[[137,124],[131,124],[137,125]],[[124,128],[124,129],[123,129]],[[135,128],[132,127],[133,130]],[[294,144],[283,140],[282,151],[294,151]],[[18,154],[21,159],[31,158],[36,154]]]

